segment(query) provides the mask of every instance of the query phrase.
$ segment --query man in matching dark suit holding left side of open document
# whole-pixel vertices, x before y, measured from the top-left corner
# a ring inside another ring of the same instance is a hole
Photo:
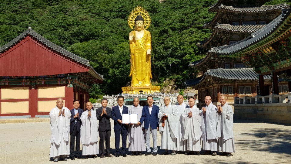
[[[114,120],[114,135],[115,135],[115,157],[119,157],[120,154],[123,157],[126,157],[126,136],[128,124],[122,124],[122,114],[128,114],[128,108],[123,106],[124,97],[118,96],[118,106],[112,108],[111,118]],[[120,141],[120,133],[121,133],[121,141],[122,141],[122,149],[119,149],[119,141]]]

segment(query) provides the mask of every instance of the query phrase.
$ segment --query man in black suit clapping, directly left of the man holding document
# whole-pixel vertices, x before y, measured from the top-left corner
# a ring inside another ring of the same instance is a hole
[[[110,136],[111,136],[111,108],[107,108],[107,99],[103,98],[101,100],[102,107],[96,109],[96,117],[99,120],[99,136],[100,136],[100,143],[99,143],[99,153],[100,158],[112,157],[110,155]],[[104,142],[106,142],[106,149],[104,149]],[[106,150],[106,151],[105,151]],[[104,156],[105,154],[105,156]]]

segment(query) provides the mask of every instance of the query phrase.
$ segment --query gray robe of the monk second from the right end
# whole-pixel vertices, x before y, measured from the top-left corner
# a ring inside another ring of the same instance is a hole
[[[205,114],[200,110],[201,131],[202,131],[202,149],[217,151],[216,127],[218,120],[218,109],[212,102],[207,106]]]

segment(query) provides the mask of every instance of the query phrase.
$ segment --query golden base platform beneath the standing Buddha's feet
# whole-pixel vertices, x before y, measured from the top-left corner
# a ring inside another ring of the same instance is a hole
[[[141,86],[141,87],[121,87],[123,94],[151,94],[160,92],[160,86]],[[142,91],[142,93],[140,93]]]

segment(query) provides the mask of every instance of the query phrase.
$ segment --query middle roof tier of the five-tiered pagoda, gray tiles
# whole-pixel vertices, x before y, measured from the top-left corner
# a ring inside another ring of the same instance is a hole
[[[266,25],[233,26],[230,24],[218,24],[217,23],[217,25],[214,27],[213,32],[212,32],[211,36],[209,37],[209,39],[203,40],[203,41],[197,43],[196,45],[199,47],[206,46],[209,42],[211,42],[211,40],[213,38],[215,38],[215,36],[217,35],[217,32],[220,32],[220,31],[252,33],[252,32],[256,32],[256,31],[262,29],[265,26]]]

